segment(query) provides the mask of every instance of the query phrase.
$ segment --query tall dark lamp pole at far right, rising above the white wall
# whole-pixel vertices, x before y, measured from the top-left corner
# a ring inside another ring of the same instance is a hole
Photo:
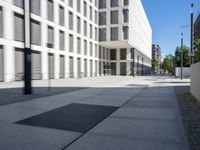
[[[194,17],[194,15],[193,15],[193,7],[194,7],[194,4],[192,3],[191,4],[191,33],[190,33],[190,65],[192,65],[193,63],[194,63],[194,60],[193,60],[193,35],[194,35],[194,31],[193,31],[193,17]]]

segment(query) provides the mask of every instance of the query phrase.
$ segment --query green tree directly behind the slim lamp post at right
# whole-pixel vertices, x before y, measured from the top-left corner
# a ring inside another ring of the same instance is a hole
[[[181,47],[177,46],[175,50],[175,62],[176,67],[181,67]],[[183,67],[190,66],[190,57],[189,57],[189,48],[187,46],[183,46]]]

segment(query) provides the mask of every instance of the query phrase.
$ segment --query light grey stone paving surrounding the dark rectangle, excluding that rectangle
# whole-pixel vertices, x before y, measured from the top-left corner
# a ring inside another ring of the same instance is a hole
[[[156,83],[160,81],[166,84]],[[106,77],[78,83],[73,79],[67,81],[69,87],[90,88],[1,106],[0,149],[59,150],[72,142],[66,150],[189,150],[174,84],[169,81],[177,80]],[[71,103],[120,108],[84,135],[14,123]]]

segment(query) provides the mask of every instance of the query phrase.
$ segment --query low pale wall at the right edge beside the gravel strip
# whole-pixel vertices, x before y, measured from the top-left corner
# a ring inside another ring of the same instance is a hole
[[[191,86],[190,92],[200,100],[200,62],[191,67]]]

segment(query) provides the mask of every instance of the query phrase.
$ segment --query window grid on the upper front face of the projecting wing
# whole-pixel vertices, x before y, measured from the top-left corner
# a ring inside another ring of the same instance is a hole
[[[99,1],[99,41],[129,39],[129,1]]]

